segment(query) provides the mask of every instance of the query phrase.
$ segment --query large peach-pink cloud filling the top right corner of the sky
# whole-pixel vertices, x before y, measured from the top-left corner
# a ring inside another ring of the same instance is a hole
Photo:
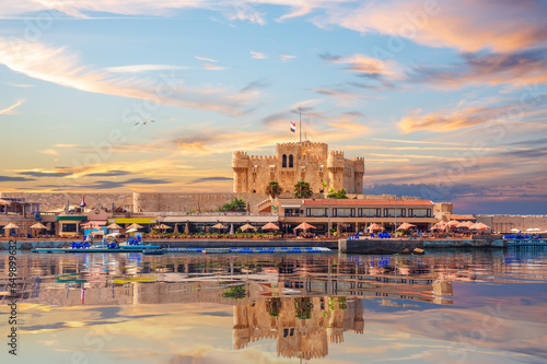
[[[547,4],[542,0],[387,0],[335,5],[316,16],[314,23],[387,35],[391,40],[383,47],[386,52],[396,54],[406,39],[461,51],[505,52],[545,44],[546,12]]]

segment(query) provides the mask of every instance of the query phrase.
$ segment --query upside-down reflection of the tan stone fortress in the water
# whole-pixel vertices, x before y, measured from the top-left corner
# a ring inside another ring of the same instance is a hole
[[[363,303],[344,296],[274,297],[234,306],[233,347],[276,339],[277,354],[303,360],[324,357],[328,342],[344,332],[363,333]]]

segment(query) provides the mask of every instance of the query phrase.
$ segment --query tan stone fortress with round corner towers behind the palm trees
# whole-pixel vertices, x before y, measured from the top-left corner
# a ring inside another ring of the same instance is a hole
[[[276,155],[247,155],[237,151],[233,153],[232,169],[235,193],[264,193],[272,180],[279,183],[283,192],[292,192],[300,180],[310,183],[315,193],[330,188],[363,192],[364,158],[345,158],[341,151],[329,152],[326,143],[279,143]]]

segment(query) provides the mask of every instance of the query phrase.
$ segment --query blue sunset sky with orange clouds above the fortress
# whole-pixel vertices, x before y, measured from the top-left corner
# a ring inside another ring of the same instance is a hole
[[[300,109],[309,140],[365,157],[364,193],[547,213],[546,17],[539,0],[8,0],[0,191],[228,192],[232,152],[298,141]]]

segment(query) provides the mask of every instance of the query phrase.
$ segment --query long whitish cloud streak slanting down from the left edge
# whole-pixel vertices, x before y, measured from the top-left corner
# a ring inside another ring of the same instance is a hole
[[[0,38],[0,63],[30,78],[66,87],[106,95],[124,96],[170,106],[242,115],[258,93],[237,93],[221,86],[190,87],[176,77],[161,80],[127,78],[80,64],[65,48],[38,43]]]

